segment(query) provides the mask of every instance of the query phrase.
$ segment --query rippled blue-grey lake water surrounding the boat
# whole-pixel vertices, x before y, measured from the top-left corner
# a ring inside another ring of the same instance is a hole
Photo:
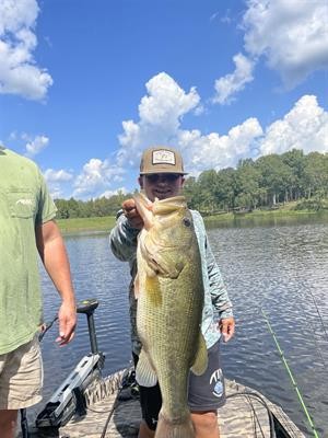
[[[305,222],[305,223],[303,223]],[[328,437],[328,223],[307,220],[212,224],[209,240],[234,303],[236,335],[222,346],[226,377],[278,403],[308,437],[306,417],[261,313],[266,312],[320,437]],[[129,365],[128,265],[117,261],[107,234],[66,238],[78,299],[96,298],[105,373]],[[43,274],[46,321],[59,300]],[[45,401],[90,351],[84,315],[74,341],[43,341]],[[42,406],[39,406],[42,407]]]

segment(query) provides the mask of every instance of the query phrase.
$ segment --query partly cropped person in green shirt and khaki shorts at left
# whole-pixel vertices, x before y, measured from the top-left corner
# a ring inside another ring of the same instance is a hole
[[[37,165],[0,147],[0,430],[13,438],[17,410],[42,399],[37,333],[43,322],[38,255],[58,290],[57,343],[69,343],[75,299],[56,206]]]

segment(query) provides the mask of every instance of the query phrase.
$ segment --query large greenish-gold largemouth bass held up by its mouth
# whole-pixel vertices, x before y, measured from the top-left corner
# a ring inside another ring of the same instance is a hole
[[[155,438],[192,438],[190,369],[202,374],[208,353],[201,334],[203,283],[192,216],[183,196],[151,203],[134,196],[144,227],[138,239],[137,327],[142,343],[139,384],[159,381],[162,408]]]

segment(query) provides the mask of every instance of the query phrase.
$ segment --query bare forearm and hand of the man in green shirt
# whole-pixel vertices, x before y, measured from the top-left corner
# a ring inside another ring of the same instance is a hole
[[[59,337],[56,342],[65,345],[74,336],[77,325],[74,291],[65,243],[54,220],[36,226],[35,237],[43,264],[61,297]]]

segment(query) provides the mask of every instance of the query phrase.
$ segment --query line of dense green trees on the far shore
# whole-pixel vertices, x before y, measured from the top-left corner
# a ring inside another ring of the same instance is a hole
[[[293,149],[257,160],[241,160],[236,166],[203,171],[187,177],[184,194],[190,208],[204,215],[279,208],[297,201],[295,208],[328,208],[328,154]],[[86,201],[56,199],[59,218],[115,216],[121,203],[132,194],[118,193],[109,198]]]

